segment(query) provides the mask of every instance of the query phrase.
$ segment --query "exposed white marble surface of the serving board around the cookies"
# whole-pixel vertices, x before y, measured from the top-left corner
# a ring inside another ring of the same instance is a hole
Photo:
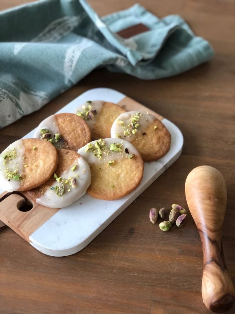
[[[57,113],[74,112],[77,106],[87,100],[118,103],[125,97],[126,95],[113,89],[90,89]],[[183,146],[182,133],[169,120],[164,118],[162,123],[171,134],[170,151],[157,161],[145,163],[144,176],[136,190],[115,201],[94,199],[85,194],[72,205],[61,208],[34,231],[29,236],[30,244],[44,254],[60,257],[79,252],[90,243],[180,156]],[[34,131],[35,129],[24,138],[32,138]],[[0,189],[0,193],[2,192]]]

